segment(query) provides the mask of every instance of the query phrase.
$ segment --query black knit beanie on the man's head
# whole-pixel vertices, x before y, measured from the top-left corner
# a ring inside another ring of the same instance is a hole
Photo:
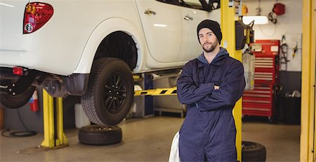
[[[222,40],[222,31],[220,31],[220,25],[218,22],[213,20],[203,20],[202,22],[197,25],[197,38],[199,39],[199,30],[202,28],[209,28],[213,33],[215,34],[216,38],[218,39],[218,42],[220,43],[220,40]]]

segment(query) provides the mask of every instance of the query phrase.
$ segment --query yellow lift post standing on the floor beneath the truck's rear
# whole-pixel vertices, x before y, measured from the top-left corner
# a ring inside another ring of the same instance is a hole
[[[62,121],[62,98],[55,100],[56,111],[54,111],[54,98],[43,89],[44,140],[40,147],[48,149],[68,146]]]

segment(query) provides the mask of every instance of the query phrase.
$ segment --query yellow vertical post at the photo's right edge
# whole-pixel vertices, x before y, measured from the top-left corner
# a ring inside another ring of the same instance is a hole
[[[303,0],[300,161],[316,161],[316,1]]]

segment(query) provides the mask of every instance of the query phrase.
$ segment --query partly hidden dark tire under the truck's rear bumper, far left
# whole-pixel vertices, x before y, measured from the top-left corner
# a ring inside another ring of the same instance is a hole
[[[0,102],[1,105],[4,105],[6,108],[21,108],[32,97],[34,93],[35,87],[30,86],[26,91],[22,94],[11,96],[9,94],[0,94]]]

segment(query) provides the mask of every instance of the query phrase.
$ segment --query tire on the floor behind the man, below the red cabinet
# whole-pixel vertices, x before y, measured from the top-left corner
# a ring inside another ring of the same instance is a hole
[[[256,142],[242,141],[242,161],[265,161],[265,147]]]

